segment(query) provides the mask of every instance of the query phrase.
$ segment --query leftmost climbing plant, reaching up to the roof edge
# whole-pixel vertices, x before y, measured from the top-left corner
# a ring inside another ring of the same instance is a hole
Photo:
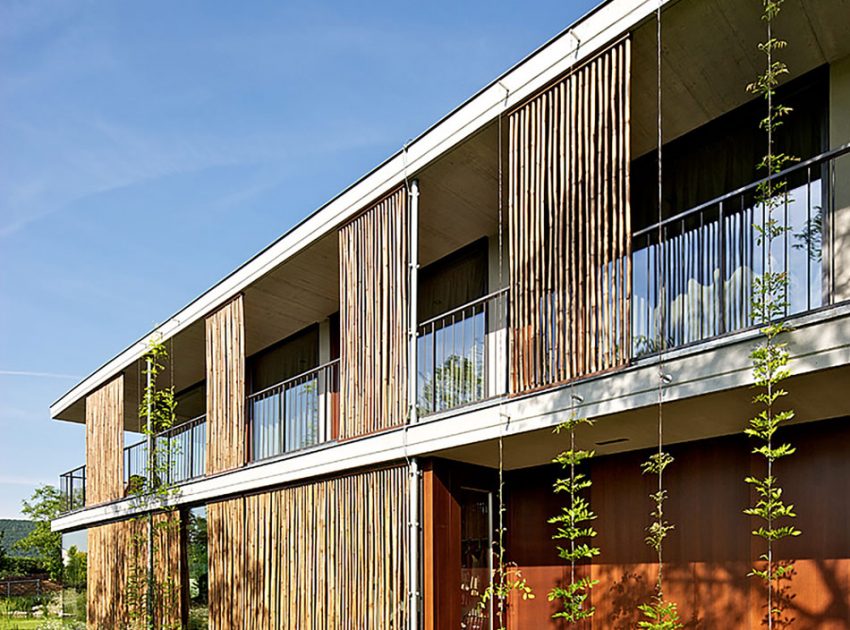
[[[139,402],[139,420],[142,434],[147,439],[145,471],[130,479],[128,493],[132,497],[134,512],[130,519],[129,565],[127,567],[126,605],[128,622],[133,628],[172,630],[180,627],[173,619],[179,609],[179,580],[167,570],[157,571],[154,566],[162,550],[163,541],[175,528],[179,518],[174,518],[171,499],[178,489],[172,483],[171,466],[176,460],[176,444],[163,439],[161,433],[170,429],[176,419],[177,402],[174,386],[161,387],[159,377],[169,361],[165,344],[151,340],[142,357],[145,379]],[[154,514],[157,513],[156,518]]]

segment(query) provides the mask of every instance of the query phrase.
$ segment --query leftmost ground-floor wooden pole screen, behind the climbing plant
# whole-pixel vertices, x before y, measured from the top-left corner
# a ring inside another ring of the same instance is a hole
[[[178,512],[154,516],[154,625],[181,627],[182,530]],[[87,627],[143,630],[147,591],[147,519],[88,530]]]

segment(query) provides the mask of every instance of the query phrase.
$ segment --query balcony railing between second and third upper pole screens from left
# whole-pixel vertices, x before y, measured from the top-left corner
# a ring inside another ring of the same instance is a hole
[[[249,460],[259,461],[334,439],[339,359],[251,394]]]

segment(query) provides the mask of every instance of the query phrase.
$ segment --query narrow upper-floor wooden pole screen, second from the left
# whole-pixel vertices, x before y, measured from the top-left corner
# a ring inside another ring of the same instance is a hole
[[[208,475],[245,463],[245,316],[238,296],[206,321]]]

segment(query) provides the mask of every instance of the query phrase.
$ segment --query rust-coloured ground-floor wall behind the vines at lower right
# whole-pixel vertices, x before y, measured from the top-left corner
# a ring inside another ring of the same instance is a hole
[[[797,629],[850,627],[850,418],[789,426],[778,440],[797,447],[778,462],[776,474],[802,530],[776,546],[780,558],[795,563],[784,585],[785,616]],[[754,500],[744,478],[763,474],[753,446],[731,436],[667,449],[675,457],[665,472],[667,517],[675,529],[664,547],[664,587],[686,627],[761,627],[765,592],[747,573],[763,548],[751,535],[757,521],[743,513]],[[585,627],[635,628],[637,606],[652,594],[657,564],[644,538],[655,478],[640,471],[647,455],[598,457],[589,466],[601,553],[584,568],[599,580],[592,592],[596,614]],[[554,526],[547,524],[565,501],[551,491],[560,472],[543,466],[507,476],[508,556],[536,593],[534,600],[511,601],[514,629],[561,627],[551,620],[556,604],[546,597],[568,577],[551,539]]]

